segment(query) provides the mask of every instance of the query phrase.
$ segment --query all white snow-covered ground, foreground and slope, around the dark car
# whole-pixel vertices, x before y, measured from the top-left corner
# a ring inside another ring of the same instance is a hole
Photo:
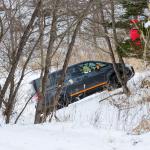
[[[17,125],[0,122],[0,150],[150,150],[150,133],[131,134],[141,119],[149,116],[149,103],[139,103],[143,97],[150,96],[149,88],[140,88],[147,76],[150,76],[149,71],[136,73],[128,82],[133,93],[130,97],[114,95],[121,92],[117,89],[70,104],[57,111],[60,122],[34,125],[35,101],[32,100]],[[12,123],[31,93],[27,81],[37,77],[37,74],[29,74],[24,80],[20,89],[22,98],[15,108]]]

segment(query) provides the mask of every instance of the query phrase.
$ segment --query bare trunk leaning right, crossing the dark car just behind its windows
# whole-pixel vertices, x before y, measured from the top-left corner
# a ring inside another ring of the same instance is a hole
[[[84,19],[84,17],[87,15],[87,12],[89,11],[92,3],[93,3],[94,0],[90,0],[87,4],[87,7],[86,9],[81,13],[79,14],[79,17],[77,17],[77,23],[76,23],[76,27],[73,31],[73,35],[72,35],[72,38],[71,38],[71,42],[69,43],[69,46],[68,46],[68,50],[67,50],[67,54],[66,54],[66,57],[65,57],[65,61],[64,61],[64,64],[63,64],[63,69],[62,69],[62,74],[61,74],[61,78],[60,80],[58,81],[58,87],[57,87],[57,90],[56,90],[56,93],[55,93],[55,96],[53,97],[53,100],[52,100],[52,104],[49,106],[49,108],[47,108],[46,111],[43,111],[42,107],[39,107],[38,110],[39,110],[39,113],[36,112],[36,118],[35,118],[35,123],[40,123],[42,121],[45,121],[47,115],[52,112],[52,116],[53,116],[53,112],[55,112],[56,110],[56,107],[58,105],[58,101],[59,101],[59,97],[60,97],[60,93],[61,93],[61,90],[62,90],[62,87],[63,87],[63,83],[64,83],[64,79],[65,79],[65,74],[66,74],[66,71],[67,71],[67,67],[68,67],[68,63],[69,63],[69,60],[70,60],[70,57],[71,57],[71,54],[72,54],[72,50],[73,50],[73,46],[74,46],[74,43],[75,43],[75,39],[76,39],[76,36],[77,36],[77,33],[80,29],[80,26],[82,24],[82,21]],[[53,13],[56,13],[55,11],[53,11]],[[53,14],[53,20],[55,19],[54,17],[56,17],[55,14]],[[55,19],[56,20],[56,19]],[[56,23],[56,21],[54,22]],[[56,26],[56,24],[55,24]],[[53,21],[52,21],[52,27],[53,27]],[[52,30],[52,27],[51,27],[51,30]],[[56,28],[56,27],[54,27]],[[54,30],[56,32],[56,30]],[[54,32],[53,31],[53,32]],[[53,36],[56,34],[56,33],[51,33]],[[52,36],[50,34],[50,36]],[[51,37],[50,37],[51,38]],[[54,42],[54,41],[53,41]],[[52,45],[51,45],[52,46]],[[51,61],[51,59],[48,59],[49,61]],[[47,66],[47,71],[49,70],[49,66]],[[47,72],[47,75],[48,75],[49,72]],[[44,77],[43,77],[44,79]],[[46,81],[47,79],[45,79],[44,81]],[[43,89],[43,88],[42,88]],[[45,90],[43,91],[45,92]],[[44,95],[45,93],[43,93]],[[42,103],[42,102],[41,102]],[[41,116],[42,114],[42,116]],[[51,117],[52,117],[51,116]]]

